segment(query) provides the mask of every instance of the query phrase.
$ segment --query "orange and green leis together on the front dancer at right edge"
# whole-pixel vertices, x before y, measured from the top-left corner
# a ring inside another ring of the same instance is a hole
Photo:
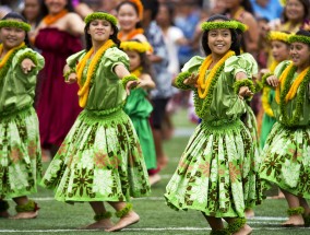
[[[297,68],[290,63],[282,73],[279,78],[281,85],[278,85],[276,90],[276,102],[279,104],[279,110],[283,116],[282,122],[288,127],[294,127],[300,119],[307,84],[310,82],[310,67],[308,67],[300,72],[293,84],[290,84],[296,70]],[[287,116],[286,106],[288,101],[295,97],[298,89],[299,92],[297,94],[296,109],[293,118],[289,119]]]

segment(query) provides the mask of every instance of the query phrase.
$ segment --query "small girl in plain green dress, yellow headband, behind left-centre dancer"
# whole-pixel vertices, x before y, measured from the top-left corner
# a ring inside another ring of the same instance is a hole
[[[124,113],[128,114],[133,122],[142,146],[146,168],[154,169],[157,167],[156,152],[148,121],[153,106],[147,99],[147,90],[155,87],[155,83],[151,78],[151,62],[146,56],[151,45],[139,40],[129,40],[122,42],[120,47],[130,59],[131,74],[136,75],[140,81],[138,87],[127,98]],[[151,185],[153,183],[152,176],[150,176],[150,183]]]

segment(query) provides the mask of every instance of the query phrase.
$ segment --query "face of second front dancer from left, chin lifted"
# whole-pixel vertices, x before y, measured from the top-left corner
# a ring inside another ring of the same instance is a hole
[[[90,23],[87,33],[93,42],[105,42],[114,34],[111,23],[106,20],[94,20]]]

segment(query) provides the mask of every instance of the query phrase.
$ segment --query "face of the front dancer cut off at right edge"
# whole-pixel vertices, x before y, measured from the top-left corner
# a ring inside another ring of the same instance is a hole
[[[293,43],[289,51],[294,66],[307,68],[310,66],[310,46],[303,43]]]

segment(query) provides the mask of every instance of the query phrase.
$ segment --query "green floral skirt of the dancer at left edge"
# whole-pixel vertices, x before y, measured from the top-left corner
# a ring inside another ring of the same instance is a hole
[[[35,193],[40,178],[41,152],[34,108],[0,116],[0,196]]]

